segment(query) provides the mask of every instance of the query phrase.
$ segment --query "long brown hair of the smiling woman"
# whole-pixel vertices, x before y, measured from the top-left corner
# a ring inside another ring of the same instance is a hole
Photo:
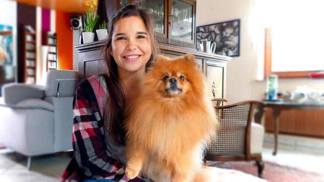
[[[126,17],[137,16],[140,17],[148,31],[148,36],[151,44],[151,56],[146,63],[146,68],[149,67],[150,62],[155,58],[157,53],[157,44],[154,39],[154,19],[148,14],[144,6],[135,2],[120,9],[109,21],[108,24],[108,39],[104,47],[105,64],[108,72],[104,74],[106,85],[108,88],[108,96],[106,109],[104,113],[105,129],[109,136],[116,144],[125,144],[125,129],[124,129],[124,107],[125,94],[123,87],[118,79],[117,64],[114,57],[110,54],[110,47],[113,37],[115,24],[118,20]]]

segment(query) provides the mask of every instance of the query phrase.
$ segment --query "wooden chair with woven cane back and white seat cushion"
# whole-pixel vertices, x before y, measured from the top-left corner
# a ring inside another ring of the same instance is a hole
[[[256,160],[258,175],[263,177],[262,144],[264,127],[252,122],[256,109],[263,109],[258,101],[245,101],[228,106],[215,106],[219,122],[217,135],[207,145],[205,160]]]

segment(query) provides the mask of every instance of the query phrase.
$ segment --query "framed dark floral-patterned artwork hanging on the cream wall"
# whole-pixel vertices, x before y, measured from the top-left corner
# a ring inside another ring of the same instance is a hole
[[[230,20],[196,27],[196,44],[199,51],[203,40],[216,43],[215,54],[239,56],[240,20]]]

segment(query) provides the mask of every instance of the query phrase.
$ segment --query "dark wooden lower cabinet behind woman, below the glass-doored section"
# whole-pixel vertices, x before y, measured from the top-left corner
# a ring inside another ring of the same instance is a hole
[[[102,47],[105,43],[105,40],[103,40],[75,46],[79,57],[78,70],[80,80],[106,72],[102,55]],[[226,63],[231,57],[207,54],[205,52],[198,52],[195,49],[182,48],[164,43],[159,43],[159,49],[161,54],[170,58],[176,58],[185,54],[193,54],[202,73],[207,78],[210,99],[213,99],[211,87],[214,80],[216,81],[217,98],[226,98]]]

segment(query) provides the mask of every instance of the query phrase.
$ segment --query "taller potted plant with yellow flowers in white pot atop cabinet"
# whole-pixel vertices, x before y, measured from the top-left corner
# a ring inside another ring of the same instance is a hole
[[[90,4],[90,2],[87,1],[86,5],[90,7],[90,9],[86,12],[85,32],[82,33],[84,44],[94,41],[95,33],[93,31],[99,18],[99,15],[94,11],[94,7],[97,5],[97,0],[94,0],[93,4]]]

